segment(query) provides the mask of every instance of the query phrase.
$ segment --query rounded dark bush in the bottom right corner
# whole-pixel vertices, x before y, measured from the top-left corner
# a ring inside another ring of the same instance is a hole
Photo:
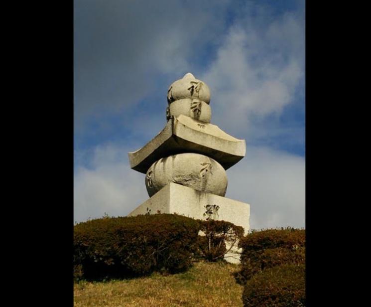
[[[244,307],[305,306],[305,266],[281,265],[255,274],[242,299]]]

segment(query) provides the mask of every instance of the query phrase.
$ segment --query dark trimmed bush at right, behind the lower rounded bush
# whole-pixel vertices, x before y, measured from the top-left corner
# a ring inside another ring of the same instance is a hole
[[[254,274],[264,268],[282,264],[305,263],[305,230],[303,229],[268,229],[251,233],[244,237],[242,247],[242,269],[236,280],[246,283]]]

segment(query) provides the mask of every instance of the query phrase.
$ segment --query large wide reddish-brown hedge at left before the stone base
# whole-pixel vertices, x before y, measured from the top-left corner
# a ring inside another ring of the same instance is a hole
[[[74,227],[75,278],[170,273],[191,266],[199,223],[174,214],[105,217]]]

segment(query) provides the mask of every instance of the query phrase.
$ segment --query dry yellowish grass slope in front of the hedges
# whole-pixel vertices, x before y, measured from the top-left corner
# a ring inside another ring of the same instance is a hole
[[[240,266],[199,262],[185,273],[74,285],[74,307],[242,307]]]

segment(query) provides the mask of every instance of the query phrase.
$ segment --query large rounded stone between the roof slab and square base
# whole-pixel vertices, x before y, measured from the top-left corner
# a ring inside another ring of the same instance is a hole
[[[145,186],[149,197],[174,182],[220,196],[227,192],[227,174],[216,160],[199,153],[179,153],[161,158],[147,170]]]

